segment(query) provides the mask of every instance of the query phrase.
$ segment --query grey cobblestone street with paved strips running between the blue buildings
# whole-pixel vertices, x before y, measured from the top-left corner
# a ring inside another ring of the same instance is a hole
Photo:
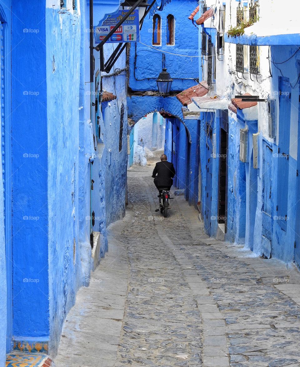
[[[155,213],[153,164],[128,171],[126,217],[79,290],[56,367],[300,366],[300,275],[210,239],[174,196]]]

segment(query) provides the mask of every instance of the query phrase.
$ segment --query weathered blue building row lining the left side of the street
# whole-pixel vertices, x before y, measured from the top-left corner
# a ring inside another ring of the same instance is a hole
[[[119,5],[95,0],[94,26]],[[100,75],[94,51],[90,83],[89,3],[5,0],[0,17],[4,365],[11,350],[55,355],[106,228],[125,214],[128,156],[126,71]],[[124,52],[115,69],[125,63]]]

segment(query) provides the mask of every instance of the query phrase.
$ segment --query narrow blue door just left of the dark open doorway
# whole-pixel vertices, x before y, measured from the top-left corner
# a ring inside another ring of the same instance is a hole
[[[211,114],[209,114],[211,116]],[[210,117],[212,118],[212,116]],[[204,225],[208,235],[211,236],[211,197],[212,197],[212,128],[211,121],[206,123],[206,185]]]

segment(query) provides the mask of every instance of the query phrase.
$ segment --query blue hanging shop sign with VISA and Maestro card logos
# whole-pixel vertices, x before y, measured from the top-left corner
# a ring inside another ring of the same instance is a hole
[[[95,28],[96,43],[100,43],[108,33],[125,17],[128,10],[119,10],[117,13],[108,15],[103,23]],[[124,23],[119,26],[107,43],[136,42],[140,40],[139,9],[134,10]]]

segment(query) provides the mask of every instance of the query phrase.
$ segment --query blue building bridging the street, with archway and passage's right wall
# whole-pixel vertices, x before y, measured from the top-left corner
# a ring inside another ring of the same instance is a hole
[[[192,12],[196,5],[196,1],[183,4],[172,0],[162,11],[144,20],[141,42],[131,44],[129,51],[128,116],[136,123],[148,113],[158,111],[166,119],[165,153],[177,172],[174,185],[184,189],[186,197],[188,182],[196,185],[186,168],[189,156],[196,151],[190,150],[191,135],[176,94],[196,85],[199,77],[199,55],[193,46],[198,31],[182,16],[183,12]],[[163,55],[173,79],[171,93],[165,98],[159,95],[156,83]]]

